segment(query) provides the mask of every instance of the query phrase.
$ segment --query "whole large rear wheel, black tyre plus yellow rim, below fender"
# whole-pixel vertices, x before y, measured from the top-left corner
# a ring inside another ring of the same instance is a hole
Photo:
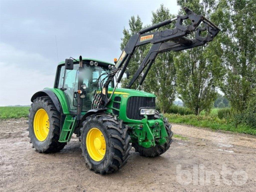
[[[31,104],[28,115],[28,137],[32,148],[39,153],[58,152],[67,143],[60,143],[60,113],[51,98],[38,97]]]

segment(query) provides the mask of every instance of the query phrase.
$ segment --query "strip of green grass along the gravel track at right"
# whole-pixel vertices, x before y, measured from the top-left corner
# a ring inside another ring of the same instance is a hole
[[[256,135],[256,130],[246,124],[235,126],[229,123],[226,119],[219,119],[217,116],[179,114],[165,114],[164,116],[168,118],[171,123],[182,123],[197,127],[207,127],[212,130],[224,130]]]

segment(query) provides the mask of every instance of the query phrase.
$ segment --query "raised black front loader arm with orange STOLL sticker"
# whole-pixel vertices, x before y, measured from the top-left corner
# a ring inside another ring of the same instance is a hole
[[[134,74],[131,82],[127,86],[127,88],[131,88],[134,81],[140,76],[142,71],[147,67],[145,73],[143,74],[139,86],[142,85],[148,71],[150,70],[156,56],[158,53],[166,52],[166,51],[181,51],[185,49],[190,49],[193,47],[198,47],[206,44],[209,41],[212,41],[213,38],[218,34],[220,29],[212,23],[210,20],[205,18],[202,15],[197,15],[187,7],[184,7],[186,15],[177,16],[173,19],[165,20],[161,23],[153,25],[151,27],[147,27],[138,33],[134,34],[128,41],[125,46],[121,56],[119,57],[115,67],[112,68],[111,72],[107,74],[106,78],[103,79],[100,83],[100,87],[98,87],[97,91],[95,91],[94,99],[92,102],[92,108],[104,108],[110,101],[118,83],[121,81],[123,74],[129,64],[131,57],[133,56],[137,47],[145,45],[145,44],[153,44],[151,49],[147,53],[146,57],[142,61],[141,65],[137,69]],[[183,26],[183,21],[189,19],[191,21],[190,25]],[[154,29],[158,29],[159,27],[168,25],[172,22],[176,21],[175,28],[166,29],[161,31],[154,31]],[[199,25],[203,23],[204,27],[199,27]],[[188,38],[187,35],[191,34],[195,31],[195,38]],[[207,31],[207,35],[205,37],[201,36],[201,31]],[[110,95],[108,96],[108,86],[109,83],[115,78],[116,74],[118,74],[116,80],[116,86]],[[101,90],[101,91],[100,91]]]

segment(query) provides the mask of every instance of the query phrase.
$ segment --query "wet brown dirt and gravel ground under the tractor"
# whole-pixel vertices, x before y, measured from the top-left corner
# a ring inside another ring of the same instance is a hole
[[[77,137],[59,153],[39,154],[26,129],[25,119],[0,121],[0,191],[256,191],[251,135],[173,125],[185,138],[166,153],[145,158],[132,148],[119,172],[102,176],[88,170]]]

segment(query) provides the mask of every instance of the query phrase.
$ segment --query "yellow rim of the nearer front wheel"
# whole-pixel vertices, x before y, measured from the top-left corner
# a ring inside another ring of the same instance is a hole
[[[101,161],[106,153],[106,142],[103,133],[96,127],[86,135],[86,148],[94,161]]]

